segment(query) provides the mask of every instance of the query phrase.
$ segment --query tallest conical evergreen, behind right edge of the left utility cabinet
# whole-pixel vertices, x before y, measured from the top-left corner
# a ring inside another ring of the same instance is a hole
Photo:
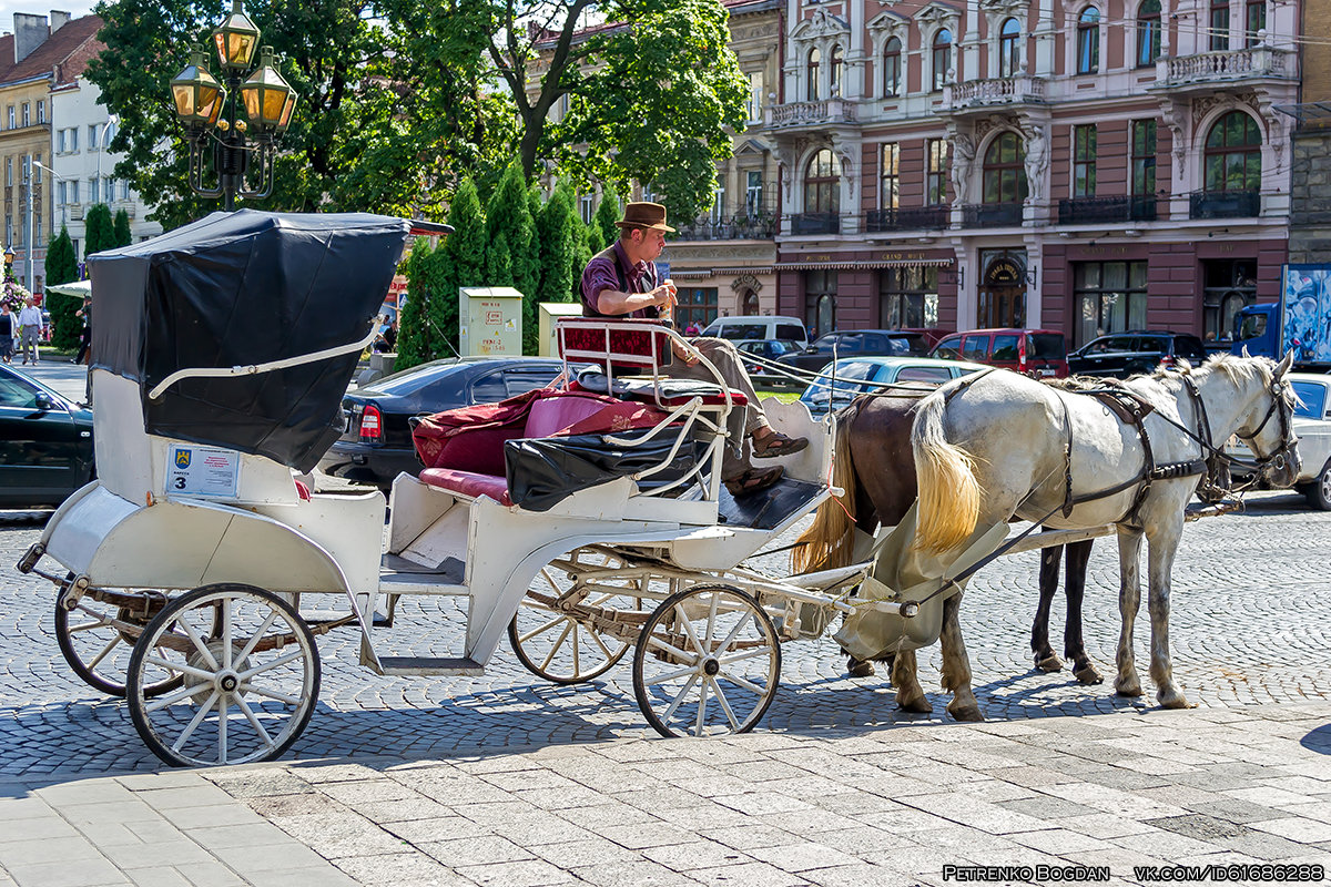
[[[512,164],[486,207],[486,286],[511,286],[522,293],[523,352],[535,354],[538,255],[535,225],[527,209],[527,184]]]

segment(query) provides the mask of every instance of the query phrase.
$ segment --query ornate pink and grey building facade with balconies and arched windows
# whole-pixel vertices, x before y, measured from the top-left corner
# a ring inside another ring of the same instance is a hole
[[[787,0],[777,309],[1219,347],[1287,257],[1299,4]]]

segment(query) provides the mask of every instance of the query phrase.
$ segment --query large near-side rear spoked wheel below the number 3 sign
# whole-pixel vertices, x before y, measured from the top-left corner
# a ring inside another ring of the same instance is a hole
[[[180,678],[157,698],[144,689]],[[277,758],[319,694],[314,634],[291,604],[252,585],[194,589],[158,613],[129,658],[129,714],[172,766]]]

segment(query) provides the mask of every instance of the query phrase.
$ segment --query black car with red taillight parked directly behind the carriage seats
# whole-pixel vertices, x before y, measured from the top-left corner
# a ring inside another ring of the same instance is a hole
[[[401,472],[421,471],[409,419],[542,388],[563,368],[555,358],[463,358],[383,376],[342,399],[342,438],[319,469],[387,489]]]

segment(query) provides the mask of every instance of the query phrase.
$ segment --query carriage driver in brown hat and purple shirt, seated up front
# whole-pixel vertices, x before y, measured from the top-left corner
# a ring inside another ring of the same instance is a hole
[[[626,203],[624,217],[615,222],[619,239],[592,257],[582,275],[583,315],[599,318],[634,318],[669,320],[675,307],[675,285],[659,282],[656,258],[666,249],[666,233],[675,229],[666,223],[666,207],[660,203]],[[781,479],[781,465],[753,468],[749,457],[771,459],[800,452],[807,438],[788,438],[773,428],[757,392],[740,363],[735,346],[725,339],[705,338],[691,343],[721,374],[725,384],[744,394],[748,407],[731,412],[731,440],[721,459],[721,480],[732,496],[767,489]],[[662,372],[676,379],[715,382],[712,374],[696,358],[676,348],[680,358]]]

